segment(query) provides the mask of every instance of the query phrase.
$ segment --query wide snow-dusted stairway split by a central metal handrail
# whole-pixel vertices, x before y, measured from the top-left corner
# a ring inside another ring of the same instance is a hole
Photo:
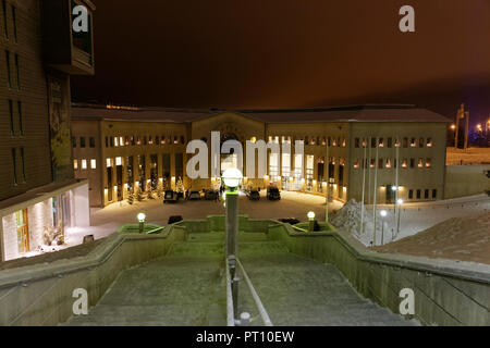
[[[360,298],[332,265],[294,256],[265,234],[240,238],[242,262],[275,325],[413,324]],[[122,272],[88,315],[68,325],[225,325],[223,239],[192,234],[169,256]],[[258,318],[244,282],[238,311]]]

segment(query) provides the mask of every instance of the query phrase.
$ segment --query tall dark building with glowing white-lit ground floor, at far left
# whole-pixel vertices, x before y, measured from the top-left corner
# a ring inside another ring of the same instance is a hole
[[[72,30],[78,4],[88,33]],[[2,261],[35,251],[45,232],[89,224],[88,183],[74,178],[71,160],[70,75],[94,73],[94,10],[88,0],[0,3]]]

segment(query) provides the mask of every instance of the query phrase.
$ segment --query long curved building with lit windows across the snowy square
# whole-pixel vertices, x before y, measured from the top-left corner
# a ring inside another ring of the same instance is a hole
[[[186,175],[193,156],[186,153],[187,142],[209,142],[212,130],[220,132],[221,142],[236,139],[244,149],[246,140],[258,139],[293,147],[291,154],[269,153],[267,174],[245,173],[245,186],[273,184],[321,195],[329,187],[334,199],[364,196],[366,203],[375,194],[378,203],[444,197],[450,120],[413,105],[228,111],[77,104],[72,119],[75,177],[88,178],[94,207],[126,199],[139,188],[175,189],[180,179],[186,189],[216,187],[220,179],[211,174]],[[294,153],[296,140],[304,141],[304,157]],[[244,167],[245,161],[246,156]],[[230,165],[236,165],[236,154],[222,154],[221,170]]]

